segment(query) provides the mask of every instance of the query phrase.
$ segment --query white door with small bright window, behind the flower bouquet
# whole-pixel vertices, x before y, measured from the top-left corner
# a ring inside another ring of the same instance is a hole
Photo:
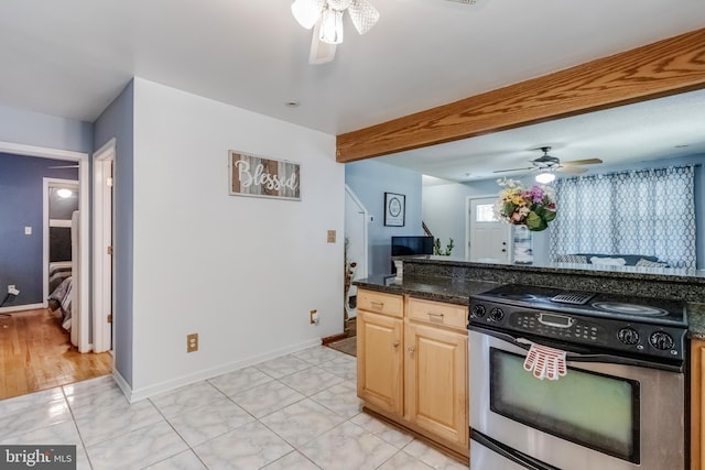
[[[497,197],[469,199],[469,261],[509,263],[511,226],[495,216]]]

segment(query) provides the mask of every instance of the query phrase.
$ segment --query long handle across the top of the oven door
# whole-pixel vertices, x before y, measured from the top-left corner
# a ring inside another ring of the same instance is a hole
[[[561,345],[546,339],[541,339],[541,341],[534,341],[534,340],[522,338],[522,337],[514,337],[512,335],[509,335],[502,331],[489,330],[481,327],[478,328],[477,326],[474,326],[470,329],[481,332],[484,335],[492,336],[502,341],[507,341],[527,351],[529,351],[532,343],[547,346],[549,348],[560,349],[566,352],[565,360],[571,362],[601,362],[601,363],[610,363],[610,364],[636,365],[636,367],[641,367],[647,369],[660,369],[660,370],[665,370],[671,372],[683,372],[683,367],[677,364],[658,362],[653,360],[646,361],[642,359],[634,359],[634,358],[615,356],[615,354],[608,354],[608,353],[577,352],[577,351],[586,351],[586,349],[575,347],[575,346],[566,347],[566,345]]]

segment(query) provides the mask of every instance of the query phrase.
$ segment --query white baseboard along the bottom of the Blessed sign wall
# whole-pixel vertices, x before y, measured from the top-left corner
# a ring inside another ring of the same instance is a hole
[[[120,385],[120,383],[118,383],[118,385],[120,386],[120,389],[122,390],[122,392],[124,393],[124,396],[128,398],[128,401],[130,403],[134,403],[134,402],[139,402],[141,400],[144,398],[149,398],[151,396],[158,395],[160,393],[165,393],[165,392],[170,392],[172,390],[178,389],[181,386],[186,386],[186,385],[191,385],[192,383],[196,383],[203,380],[208,380],[208,379],[213,379],[215,376],[228,373],[228,372],[234,372],[250,365],[254,365],[259,362],[264,362],[268,361],[270,359],[274,359],[274,358],[279,358],[281,356],[285,356],[285,354],[290,354],[292,352],[297,352],[301,351],[303,349],[306,348],[311,348],[313,346],[318,346],[319,340],[317,339],[310,339],[306,340],[304,342],[300,342],[296,345],[291,345],[288,346],[285,348],[281,348],[281,349],[276,349],[263,354],[258,354],[258,356],[251,356],[249,358],[239,360],[239,361],[234,361],[234,362],[229,362],[223,365],[218,365],[212,369],[206,369],[203,371],[198,371],[198,372],[194,372],[191,374],[186,374],[186,375],[181,375],[178,378],[175,379],[171,379],[164,382],[160,382],[160,383],[155,383],[153,385],[148,385],[144,387],[139,387],[139,389],[131,389],[129,386],[129,384],[127,382],[124,382],[124,385],[127,386],[127,389],[124,389],[123,386]]]

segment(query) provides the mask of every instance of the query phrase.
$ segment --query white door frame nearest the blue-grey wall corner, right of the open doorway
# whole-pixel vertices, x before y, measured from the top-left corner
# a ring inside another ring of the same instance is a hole
[[[115,164],[116,139],[106,142],[93,155],[93,311],[94,352],[112,349],[112,325],[108,313],[115,315],[115,263],[108,248],[113,247],[115,198],[104,184]],[[111,172],[115,175],[115,171]],[[115,185],[113,185],[115,186]],[[109,311],[106,311],[109,310]]]

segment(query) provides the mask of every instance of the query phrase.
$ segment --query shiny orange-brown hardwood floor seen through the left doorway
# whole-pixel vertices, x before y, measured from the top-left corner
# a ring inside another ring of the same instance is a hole
[[[110,373],[110,353],[79,353],[50,309],[0,315],[0,400]]]

